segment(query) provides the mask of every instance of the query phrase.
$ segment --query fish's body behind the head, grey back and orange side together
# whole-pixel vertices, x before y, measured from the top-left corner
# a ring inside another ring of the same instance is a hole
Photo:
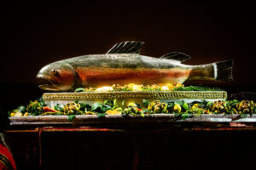
[[[82,63],[85,58],[90,58],[86,66],[76,65]],[[183,68],[181,66],[177,68],[178,62],[177,65],[172,65],[168,59],[155,59],[138,54],[81,56],[73,59],[70,64],[76,70],[80,84],[88,87],[131,82],[140,84],[183,82],[184,78],[189,77],[190,71],[185,65]]]

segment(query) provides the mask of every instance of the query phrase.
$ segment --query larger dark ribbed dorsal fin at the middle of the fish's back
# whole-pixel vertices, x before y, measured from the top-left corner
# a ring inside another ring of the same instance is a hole
[[[144,42],[119,42],[109,49],[107,54],[140,54]]]

